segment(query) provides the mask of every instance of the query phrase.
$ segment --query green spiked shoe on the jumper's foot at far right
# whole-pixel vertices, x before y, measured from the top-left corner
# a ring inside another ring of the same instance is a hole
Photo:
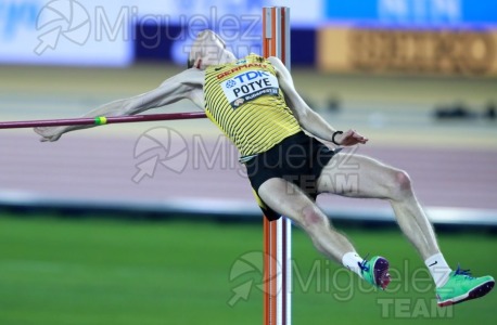
[[[438,307],[480,298],[492,290],[495,285],[494,277],[489,275],[472,277],[469,271],[457,266],[456,271],[450,272],[447,283],[436,288]]]

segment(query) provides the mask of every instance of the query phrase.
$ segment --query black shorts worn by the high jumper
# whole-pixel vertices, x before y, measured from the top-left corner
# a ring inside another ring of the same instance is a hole
[[[245,162],[254,195],[266,218],[272,221],[281,216],[266,206],[258,196],[264,182],[272,178],[284,179],[316,199],[317,180],[335,153],[301,131]]]

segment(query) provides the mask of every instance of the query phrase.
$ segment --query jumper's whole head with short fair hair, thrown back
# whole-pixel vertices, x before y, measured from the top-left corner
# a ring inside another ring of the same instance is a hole
[[[225,41],[211,29],[201,31],[193,41],[188,56],[188,68],[205,69],[209,65],[218,65],[237,61],[234,54],[226,49]]]

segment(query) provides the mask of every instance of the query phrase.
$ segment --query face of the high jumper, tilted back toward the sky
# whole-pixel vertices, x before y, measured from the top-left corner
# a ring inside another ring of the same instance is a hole
[[[216,34],[209,31],[207,37],[202,39],[202,56],[197,62],[201,69],[234,61],[237,61],[234,54],[226,49],[226,44]]]

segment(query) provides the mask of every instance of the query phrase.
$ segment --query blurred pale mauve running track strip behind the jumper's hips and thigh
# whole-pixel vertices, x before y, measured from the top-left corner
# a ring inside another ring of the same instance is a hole
[[[97,141],[97,138],[71,134],[59,142],[40,143],[34,133],[8,135],[0,140],[1,197],[28,194],[53,199],[140,204],[214,199],[256,207],[248,181],[243,177],[244,169],[231,148],[227,150],[230,157],[220,154],[221,158],[205,161],[199,158],[202,157],[199,150],[192,153],[193,140],[187,139],[190,150],[166,162],[177,171],[184,166],[183,171],[178,173],[158,164],[152,178],[144,177],[136,183],[132,179],[139,171],[137,164],[157,153],[162,159],[167,156],[163,150],[152,148],[135,158],[137,139],[131,138]],[[215,153],[215,141],[205,143],[205,152]],[[171,152],[174,148],[175,145]],[[358,153],[407,170],[423,206],[497,210],[496,151],[367,145]],[[378,200],[331,195],[319,202],[326,208],[387,206]]]

